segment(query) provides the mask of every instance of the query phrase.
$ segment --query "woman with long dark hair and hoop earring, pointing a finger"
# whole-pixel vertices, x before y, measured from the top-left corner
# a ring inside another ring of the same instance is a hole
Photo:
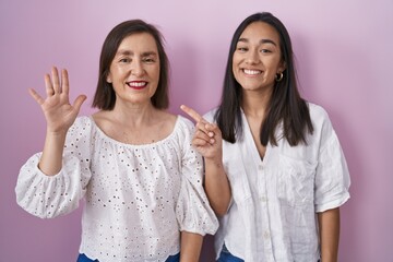
[[[205,118],[183,109],[222,216],[219,262],[337,261],[349,175],[327,114],[299,95],[278,19],[255,13],[238,26],[217,109]]]

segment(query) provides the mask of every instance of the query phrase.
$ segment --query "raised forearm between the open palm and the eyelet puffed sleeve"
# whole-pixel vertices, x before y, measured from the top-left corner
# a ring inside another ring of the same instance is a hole
[[[61,170],[66,134],[47,132],[43,155],[38,164],[39,169],[47,176],[53,176]]]

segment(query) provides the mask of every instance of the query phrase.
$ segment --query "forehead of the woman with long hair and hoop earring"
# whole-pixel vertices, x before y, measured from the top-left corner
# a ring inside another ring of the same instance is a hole
[[[239,38],[248,40],[271,39],[274,43],[279,44],[278,32],[272,25],[264,22],[253,22],[249,24]]]

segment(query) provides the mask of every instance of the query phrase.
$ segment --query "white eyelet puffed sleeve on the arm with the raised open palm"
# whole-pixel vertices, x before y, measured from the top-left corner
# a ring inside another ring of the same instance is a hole
[[[46,176],[38,168],[41,153],[33,155],[21,168],[15,193],[17,204],[28,213],[50,218],[79,206],[91,178],[91,132],[87,117],[75,120],[67,133],[62,169]]]

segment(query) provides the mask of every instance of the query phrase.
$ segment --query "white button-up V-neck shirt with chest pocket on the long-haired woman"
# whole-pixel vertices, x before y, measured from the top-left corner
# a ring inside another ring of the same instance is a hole
[[[349,199],[349,174],[327,114],[309,104],[313,134],[290,146],[276,133],[261,159],[245,115],[243,138],[223,141],[233,201],[215,238],[217,258],[227,249],[246,262],[313,261],[320,255],[315,213]],[[213,121],[214,111],[205,118]]]

